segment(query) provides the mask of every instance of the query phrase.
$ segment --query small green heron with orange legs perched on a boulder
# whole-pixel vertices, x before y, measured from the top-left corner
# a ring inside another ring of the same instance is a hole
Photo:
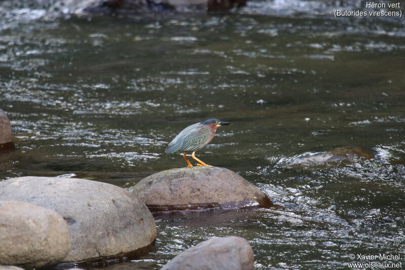
[[[198,163],[197,166],[211,166],[205,164],[195,157],[195,151],[206,146],[215,136],[217,128],[221,126],[232,125],[232,123],[222,122],[218,119],[209,119],[204,122],[195,123],[183,129],[177,136],[169,143],[166,148],[166,153],[183,152],[183,158],[187,162],[187,167],[193,167],[187,159],[187,152],[191,152],[191,157]]]

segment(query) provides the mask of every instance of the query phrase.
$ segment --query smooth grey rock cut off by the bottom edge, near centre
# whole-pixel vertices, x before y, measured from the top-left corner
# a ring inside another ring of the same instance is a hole
[[[253,270],[254,254],[246,239],[212,238],[183,251],[161,270]]]

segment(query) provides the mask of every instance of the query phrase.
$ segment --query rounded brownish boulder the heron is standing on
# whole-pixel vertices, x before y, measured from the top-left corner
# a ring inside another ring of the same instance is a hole
[[[152,212],[272,205],[270,199],[246,179],[219,167],[200,166],[155,173],[130,190]]]

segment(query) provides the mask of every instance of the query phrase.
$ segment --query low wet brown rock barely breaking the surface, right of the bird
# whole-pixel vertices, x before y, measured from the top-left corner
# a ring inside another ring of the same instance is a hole
[[[343,147],[328,152],[303,153],[288,160],[281,160],[279,165],[297,165],[306,163],[326,163],[341,160],[372,159],[374,156],[357,147]]]

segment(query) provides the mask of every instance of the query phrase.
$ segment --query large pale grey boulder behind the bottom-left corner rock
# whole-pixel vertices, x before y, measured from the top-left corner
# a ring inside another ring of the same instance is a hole
[[[28,202],[62,215],[71,243],[65,262],[131,252],[156,238],[153,216],[144,203],[131,192],[107,183],[19,177],[0,181],[0,200]]]

